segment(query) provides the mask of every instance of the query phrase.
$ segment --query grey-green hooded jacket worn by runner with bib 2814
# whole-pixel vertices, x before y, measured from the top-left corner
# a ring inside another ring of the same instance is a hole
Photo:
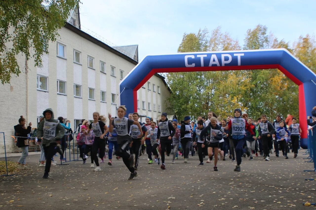
[[[49,120],[46,120],[46,119],[45,119],[45,113],[46,113],[47,111],[52,112],[52,118],[49,119]],[[43,137],[43,127],[44,127],[45,121],[58,123],[58,125],[56,126],[56,132],[55,132],[56,137],[53,138],[53,139],[51,139],[51,140],[48,140],[48,139],[45,139],[45,138],[43,138],[43,140],[42,140],[42,144],[45,144],[46,146],[48,146],[48,145],[50,145],[51,143],[56,143],[56,141],[60,141],[60,139],[61,139],[61,138],[64,136],[64,134],[65,134],[65,129],[64,129],[64,127],[63,127],[62,125],[60,125],[60,123],[59,123],[58,120],[55,120],[55,119],[54,119],[54,113],[53,113],[53,110],[52,110],[51,108],[46,109],[46,110],[43,112],[43,115],[44,115],[44,120],[42,120],[42,121],[40,122],[40,124],[37,126],[37,131],[36,131],[37,133],[36,133],[36,134],[37,134],[37,138],[38,138],[38,139],[40,139],[40,138]]]

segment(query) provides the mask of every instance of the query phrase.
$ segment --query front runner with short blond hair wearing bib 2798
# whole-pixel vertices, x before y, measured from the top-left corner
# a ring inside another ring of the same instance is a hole
[[[117,114],[118,117],[114,118],[114,120],[112,119],[111,114],[109,114],[109,131],[112,133],[114,127],[116,129],[116,133],[118,134],[118,150],[116,151],[116,155],[123,158],[125,166],[131,172],[131,176],[128,178],[130,180],[137,177],[137,172],[133,167],[135,155],[130,155],[127,152],[130,149],[130,143],[132,142],[131,136],[129,134],[131,130],[131,125],[137,125],[138,130],[140,131],[138,138],[141,138],[143,136],[143,131],[141,126],[139,125],[139,122],[124,117],[124,115],[126,114],[125,106],[119,106]]]

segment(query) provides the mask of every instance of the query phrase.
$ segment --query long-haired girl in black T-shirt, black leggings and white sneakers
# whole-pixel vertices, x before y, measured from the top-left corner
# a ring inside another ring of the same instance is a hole
[[[85,135],[87,136],[90,131],[92,130],[94,133],[94,142],[92,144],[92,153],[93,156],[91,158],[94,159],[94,163],[96,167],[93,171],[101,171],[99,165],[99,159],[97,156],[98,149],[99,149],[99,157],[104,157],[105,155],[105,139],[104,136],[106,135],[108,128],[106,124],[104,123],[106,121],[106,118],[99,114],[99,112],[93,113],[93,122],[89,125],[88,131],[85,132]]]

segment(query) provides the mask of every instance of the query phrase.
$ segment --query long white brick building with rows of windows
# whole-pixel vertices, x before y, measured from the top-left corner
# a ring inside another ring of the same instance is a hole
[[[138,45],[111,47],[80,29],[79,8],[70,13],[68,23],[59,30],[60,37],[49,43],[43,53],[43,67],[34,67],[32,60],[18,56],[22,73],[13,76],[0,91],[0,118],[5,122],[7,152],[16,151],[13,126],[23,115],[32,127],[46,108],[52,108],[55,119],[71,121],[71,128],[81,119],[93,120],[92,113],[116,115],[119,82],[138,63]],[[166,110],[170,96],[164,77],[152,76],[137,91],[138,111],[157,119]],[[133,110],[128,110],[132,112]],[[142,119],[144,121],[145,119]],[[4,152],[0,134],[0,153]]]

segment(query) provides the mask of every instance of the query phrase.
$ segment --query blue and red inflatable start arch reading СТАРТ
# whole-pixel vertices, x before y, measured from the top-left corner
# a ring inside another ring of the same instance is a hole
[[[155,73],[273,68],[279,69],[299,86],[299,115],[304,131],[301,138],[306,139],[306,110],[309,113],[316,105],[316,75],[286,49],[149,55],[120,82],[120,102],[128,112],[137,112],[137,90]]]

